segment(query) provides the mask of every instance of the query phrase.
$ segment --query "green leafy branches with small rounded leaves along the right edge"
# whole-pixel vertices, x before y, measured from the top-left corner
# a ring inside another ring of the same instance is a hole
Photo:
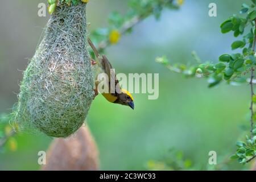
[[[231,45],[231,49],[241,51],[236,53],[224,53],[218,59],[218,63],[206,62],[200,64],[201,60],[192,52],[197,64],[187,66],[184,64],[170,64],[166,56],[157,57],[156,61],[162,63],[171,71],[181,73],[186,77],[206,77],[209,78],[209,87],[216,86],[222,81],[228,84],[238,85],[249,82],[251,85],[251,129],[250,136],[246,135],[246,142],[237,142],[237,152],[232,159],[238,159],[240,163],[250,162],[256,155],[256,126],[254,125],[256,96],[253,92],[255,82],[254,69],[255,43],[256,43],[256,9],[255,0],[251,0],[251,5],[242,4],[241,15],[234,14],[226,19],[220,26],[221,32],[226,34],[233,32],[234,38],[239,38]]]

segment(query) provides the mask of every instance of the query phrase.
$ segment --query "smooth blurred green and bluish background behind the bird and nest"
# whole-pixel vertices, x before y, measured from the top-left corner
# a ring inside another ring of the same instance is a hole
[[[43,0],[2,1],[0,6],[0,113],[10,113],[17,101],[19,82],[28,59],[34,55],[49,16],[37,15]],[[125,13],[128,1],[91,0],[89,30],[106,26],[113,10]],[[210,2],[217,4],[217,17],[208,16]],[[100,149],[101,169],[148,169],[148,161],[161,160],[170,148],[182,151],[193,169],[211,169],[208,152],[217,152],[217,162],[235,152],[236,141],[249,126],[249,86],[221,84],[207,88],[204,79],[187,79],[155,63],[167,55],[172,63],[189,63],[191,51],[202,60],[216,62],[230,53],[232,35],[223,35],[220,24],[237,14],[245,0],[185,1],[180,10],[166,10],[159,21],[147,18],[131,35],[107,49],[117,72],[159,73],[159,98],[134,94],[135,110],[114,105],[98,96],[87,120]],[[52,138],[19,134],[16,151],[0,153],[0,169],[39,169],[38,151],[47,150]],[[243,138],[242,138],[243,139]],[[232,162],[222,169],[247,169]]]

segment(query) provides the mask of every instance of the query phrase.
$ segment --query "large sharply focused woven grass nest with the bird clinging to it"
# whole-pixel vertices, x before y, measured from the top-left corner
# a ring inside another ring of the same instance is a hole
[[[86,3],[60,5],[24,72],[14,121],[68,137],[85,121],[93,100],[93,73],[86,51]]]

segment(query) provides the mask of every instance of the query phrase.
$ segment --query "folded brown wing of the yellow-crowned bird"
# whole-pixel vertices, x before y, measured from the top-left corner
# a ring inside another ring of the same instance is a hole
[[[108,75],[109,81],[115,83],[115,92],[121,93],[121,88],[117,80],[117,76],[115,76],[113,67],[105,55],[102,56],[102,67],[104,68],[105,73]]]

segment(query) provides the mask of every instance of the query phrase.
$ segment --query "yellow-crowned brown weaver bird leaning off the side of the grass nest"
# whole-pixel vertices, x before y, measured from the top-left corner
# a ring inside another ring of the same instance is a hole
[[[90,47],[92,47],[94,55],[97,58],[97,61],[92,60],[92,64],[95,65],[97,64],[98,67],[100,67],[100,72],[101,73],[106,73],[106,75],[108,75],[108,80],[109,80],[109,92],[108,93],[101,93],[106,100],[108,100],[109,102],[112,102],[114,104],[121,104],[121,105],[126,105],[126,106],[130,106],[131,109],[134,109],[134,102],[133,102],[133,96],[131,96],[130,92],[128,92],[125,89],[121,89],[119,82],[117,80],[117,77],[115,74],[113,74],[113,72],[111,71],[113,69],[112,65],[110,64],[108,58],[105,55],[100,55],[96,49],[96,47],[94,46],[94,44],[92,43],[92,41],[88,38],[88,43],[90,45]],[[96,78],[97,79],[97,78]],[[111,82],[115,83],[115,90],[113,93],[110,92],[110,86],[111,86]],[[95,96],[96,97],[98,95],[98,81],[96,80],[95,82],[96,88],[94,89],[95,91]]]

